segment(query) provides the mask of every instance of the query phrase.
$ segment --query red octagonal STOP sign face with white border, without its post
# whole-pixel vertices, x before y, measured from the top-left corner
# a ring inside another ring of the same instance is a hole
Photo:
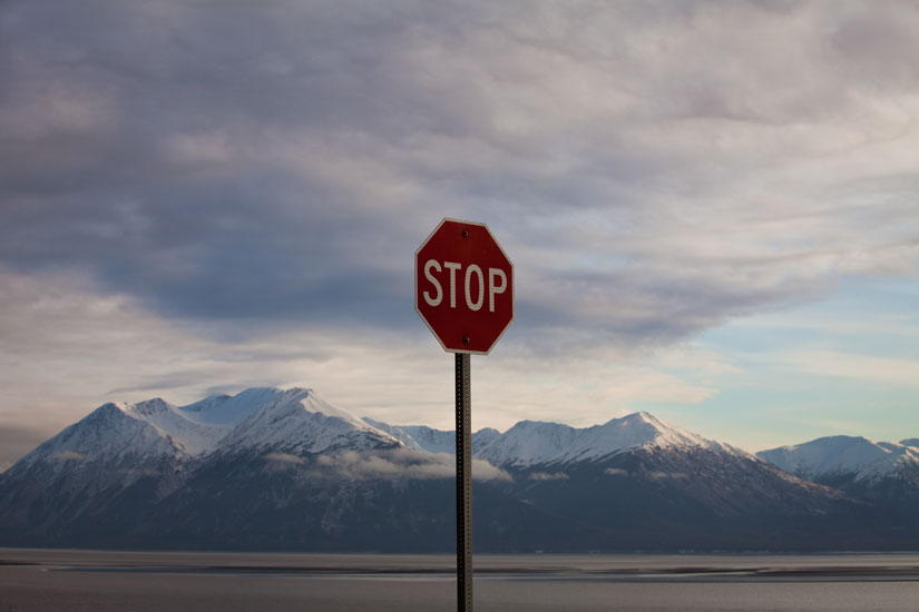
[[[443,219],[414,254],[414,307],[444,351],[487,355],[514,320],[514,264],[485,224]]]

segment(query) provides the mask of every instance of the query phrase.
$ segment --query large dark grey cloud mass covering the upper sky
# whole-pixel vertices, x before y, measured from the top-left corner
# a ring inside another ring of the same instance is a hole
[[[917,37],[906,2],[7,2],[0,261],[227,339],[417,329],[411,254],[469,217],[520,342],[666,345],[915,270]]]

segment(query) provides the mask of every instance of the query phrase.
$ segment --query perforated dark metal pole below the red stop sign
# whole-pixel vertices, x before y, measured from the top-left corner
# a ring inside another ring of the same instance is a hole
[[[472,393],[468,353],[457,353],[457,610],[472,612]]]

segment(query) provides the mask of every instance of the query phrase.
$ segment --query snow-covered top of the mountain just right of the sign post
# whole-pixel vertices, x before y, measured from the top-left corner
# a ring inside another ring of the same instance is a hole
[[[493,465],[527,466],[593,461],[638,447],[703,447],[742,453],[641,412],[586,428],[522,421],[485,445],[476,456]]]

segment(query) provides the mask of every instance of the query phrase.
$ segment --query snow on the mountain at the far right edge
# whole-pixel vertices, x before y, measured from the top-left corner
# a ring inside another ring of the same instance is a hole
[[[844,435],[761,451],[756,455],[804,478],[839,474],[854,474],[856,480],[878,478],[905,466],[919,466],[919,448]]]

